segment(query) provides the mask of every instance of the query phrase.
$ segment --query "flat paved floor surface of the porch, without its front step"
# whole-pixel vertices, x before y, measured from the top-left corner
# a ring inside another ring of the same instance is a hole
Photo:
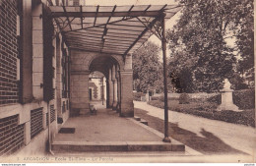
[[[75,128],[75,134],[58,134],[54,141],[161,141],[115,111],[100,104],[96,108],[96,115],[69,118],[62,128]]]

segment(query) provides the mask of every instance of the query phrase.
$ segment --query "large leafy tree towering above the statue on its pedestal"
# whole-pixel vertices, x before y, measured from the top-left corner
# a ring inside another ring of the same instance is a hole
[[[189,84],[182,87],[184,90],[210,92],[222,88],[225,78],[233,78],[237,69],[237,56],[234,52],[236,48],[228,43],[228,39],[234,36],[237,36],[239,52],[244,57],[251,57],[242,49],[253,51],[253,40],[247,40],[248,46],[244,46],[242,42],[243,37],[251,33],[253,22],[247,23],[251,21],[251,17],[245,18],[253,16],[252,2],[253,0],[180,1],[184,5],[181,17],[177,25],[167,31],[167,38],[171,49],[170,71],[177,73],[177,76],[185,71],[190,76]],[[249,9],[244,10],[247,6]],[[246,32],[242,32],[243,30]],[[190,88],[187,89],[187,86]]]

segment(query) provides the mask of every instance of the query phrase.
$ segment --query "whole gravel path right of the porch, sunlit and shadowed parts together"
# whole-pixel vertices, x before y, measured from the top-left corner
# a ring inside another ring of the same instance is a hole
[[[163,109],[139,101],[134,105],[136,116],[163,133]],[[243,125],[169,111],[169,135],[204,154],[256,153],[256,131]]]

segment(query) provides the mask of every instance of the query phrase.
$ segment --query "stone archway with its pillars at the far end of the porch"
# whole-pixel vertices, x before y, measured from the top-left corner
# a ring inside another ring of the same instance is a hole
[[[71,50],[71,112],[87,114],[89,75],[98,71],[106,78],[106,106],[120,116],[134,116],[131,56]]]

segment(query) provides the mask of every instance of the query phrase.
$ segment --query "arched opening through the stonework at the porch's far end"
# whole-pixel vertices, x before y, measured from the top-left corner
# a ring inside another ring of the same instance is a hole
[[[106,108],[112,108],[119,112],[121,94],[119,63],[111,56],[99,56],[90,63],[89,70],[91,72],[89,77],[90,103],[99,106],[101,102],[101,105],[103,104]],[[105,84],[101,87],[102,93],[105,93],[101,96],[100,101],[96,100],[99,97],[96,97],[96,90],[94,91],[99,80],[101,81],[99,84]]]

